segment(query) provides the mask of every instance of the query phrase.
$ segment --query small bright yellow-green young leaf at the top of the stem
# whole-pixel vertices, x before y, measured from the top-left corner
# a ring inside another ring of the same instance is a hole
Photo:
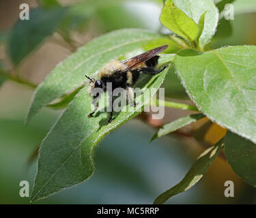
[[[175,7],[171,0],[165,3],[160,21],[165,27],[188,39],[190,42],[193,42],[197,37],[198,27],[195,21],[186,16],[182,10]]]

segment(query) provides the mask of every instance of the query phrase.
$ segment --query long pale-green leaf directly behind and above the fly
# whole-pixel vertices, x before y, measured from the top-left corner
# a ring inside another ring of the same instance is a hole
[[[123,29],[102,35],[81,47],[68,59],[59,63],[35,90],[27,121],[54,99],[81,87],[85,82],[85,74],[94,77],[111,59],[118,59],[158,38],[160,35],[149,31]]]

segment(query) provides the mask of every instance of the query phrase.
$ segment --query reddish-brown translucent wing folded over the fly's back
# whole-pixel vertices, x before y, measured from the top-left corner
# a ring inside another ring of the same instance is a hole
[[[135,66],[139,65],[140,63],[143,63],[149,59],[152,59],[152,57],[155,57],[156,55],[158,55],[160,52],[162,52],[163,50],[165,50],[167,48],[168,48],[168,46],[165,45],[165,46],[160,46],[160,47],[154,48],[152,50],[148,50],[147,52],[144,52],[141,55],[132,57],[132,58],[124,61],[123,63],[126,65],[127,70],[132,69],[132,67],[135,67]]]

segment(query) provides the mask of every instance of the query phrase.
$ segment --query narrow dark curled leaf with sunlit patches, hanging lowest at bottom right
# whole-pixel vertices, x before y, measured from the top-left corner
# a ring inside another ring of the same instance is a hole
[[[158,196],[158,198],[156,198],[156,200],[154,201],[154,204],[164,204],[172,196],[175,196],[178,193],[181,193],[190,189],[190,187],[193,187],[193,185],[195,185],[201,179],[203,174],[205,174],[205,172],[211,166],[212,161],[214,161],[214,159],[222,151],[223,144],[223,140],[221,140],[215,146],[212,146],[204,151],[197,158],[197,161],[194,163],[192,168],[190,168],[182,181]]]

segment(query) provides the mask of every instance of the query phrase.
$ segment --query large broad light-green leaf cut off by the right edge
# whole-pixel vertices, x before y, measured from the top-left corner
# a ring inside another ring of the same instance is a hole
[[[175,56],[175,68],[206,116],[256,142],[256,46],[183,50]]]

